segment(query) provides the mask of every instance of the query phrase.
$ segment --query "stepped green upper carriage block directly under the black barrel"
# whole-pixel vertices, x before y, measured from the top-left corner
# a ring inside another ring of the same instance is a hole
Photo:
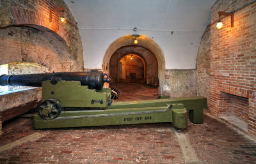
[[[80,84],[77,81],[60,81],[55,85],[49,81],[42,82],[42,101],[53,98],[60,101],[62,107],[107,107],[110,89],[96,91]],[[92,104],[92,100],[103,100],[103,103],[95,101]]]

